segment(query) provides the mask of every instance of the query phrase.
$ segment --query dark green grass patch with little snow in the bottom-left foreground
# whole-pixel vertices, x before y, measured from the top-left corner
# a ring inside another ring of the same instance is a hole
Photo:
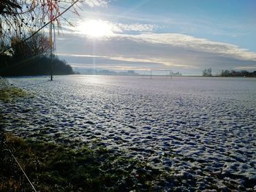
[[[105,147],[72,150],[11,134],[6,138],[37,191],[150,191],[167,176]]]

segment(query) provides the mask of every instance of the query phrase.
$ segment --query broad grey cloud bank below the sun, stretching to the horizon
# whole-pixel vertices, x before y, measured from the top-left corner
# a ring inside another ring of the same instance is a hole
[[[58,53],[69,63],[106,66],[105,69],[172,69],[182,74],[201,74],[211,67],[214,73],[222,69],[255,69],[255,53],[236,45],[212,42],[183,34],[136,35],[115,34],[105,39],[90,39],[67,34],[61,40]],[[58,43],[58,42],[57,42]]]

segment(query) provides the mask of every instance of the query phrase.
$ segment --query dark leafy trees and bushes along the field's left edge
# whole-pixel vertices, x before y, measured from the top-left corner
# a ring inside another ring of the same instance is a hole
[[[0,55],[1,76],[48,75],[51,62],[53,74],[74,74],[66,61],[59,60],[55,55],[50,59],[50,42],[44,34],[36,34],[26,42],[14,36],[11,45],[12,50]],[[0,42],[0,46],[4,45]]]

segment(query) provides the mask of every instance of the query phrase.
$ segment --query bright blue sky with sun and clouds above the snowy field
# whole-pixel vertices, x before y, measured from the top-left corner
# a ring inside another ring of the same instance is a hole
[[[256,1],[85,0],[56,53],[81,68],[256,70]]]

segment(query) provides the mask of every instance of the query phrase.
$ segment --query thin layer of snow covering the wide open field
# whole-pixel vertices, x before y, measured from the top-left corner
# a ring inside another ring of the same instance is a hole
[[[181,191],[256,191],[255,79],[75,75],[9,81],[33,96],[0,101],[7,131],[73,147],[100,141],[156,169],[175,170]]]

